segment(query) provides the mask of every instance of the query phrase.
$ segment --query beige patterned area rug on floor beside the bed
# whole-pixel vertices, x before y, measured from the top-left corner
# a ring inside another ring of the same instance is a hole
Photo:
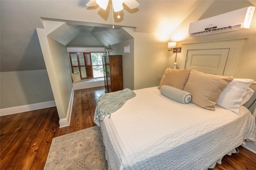
[[[107,170],[100,127],[52,139],[44,170]]]

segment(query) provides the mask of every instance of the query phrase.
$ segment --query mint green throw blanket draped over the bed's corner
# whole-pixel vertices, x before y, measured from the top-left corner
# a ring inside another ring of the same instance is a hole
[[[98,119],[101,121],[107,115],[109,115],[110,118],[111,113],[120,109],[128,99],[133,98],[134,96],[136,96],[136,94],[128,88],[117,92],[102,94],[98,98],[94,120]]]

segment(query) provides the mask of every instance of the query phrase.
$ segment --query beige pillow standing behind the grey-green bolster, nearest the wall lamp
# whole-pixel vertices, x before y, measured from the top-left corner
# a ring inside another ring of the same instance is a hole
[[[171,69],[170,67],[167,67],[158,89],[163,85],[167,85],[183,90],[190,71],[191,70],[188,69]]]

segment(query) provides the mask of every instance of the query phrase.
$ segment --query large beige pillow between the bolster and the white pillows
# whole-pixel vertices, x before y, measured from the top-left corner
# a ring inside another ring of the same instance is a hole
[[[183,90],[192,94],[190,102],[205,109],[215,110],[221,92],[234,78],[191,70]]]

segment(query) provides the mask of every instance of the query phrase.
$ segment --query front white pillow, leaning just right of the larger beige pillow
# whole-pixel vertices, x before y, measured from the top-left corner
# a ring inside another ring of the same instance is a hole
[[[220,94],[216,104],[238,114],[240,103],[253,81],[252,79],[234,78]]]

